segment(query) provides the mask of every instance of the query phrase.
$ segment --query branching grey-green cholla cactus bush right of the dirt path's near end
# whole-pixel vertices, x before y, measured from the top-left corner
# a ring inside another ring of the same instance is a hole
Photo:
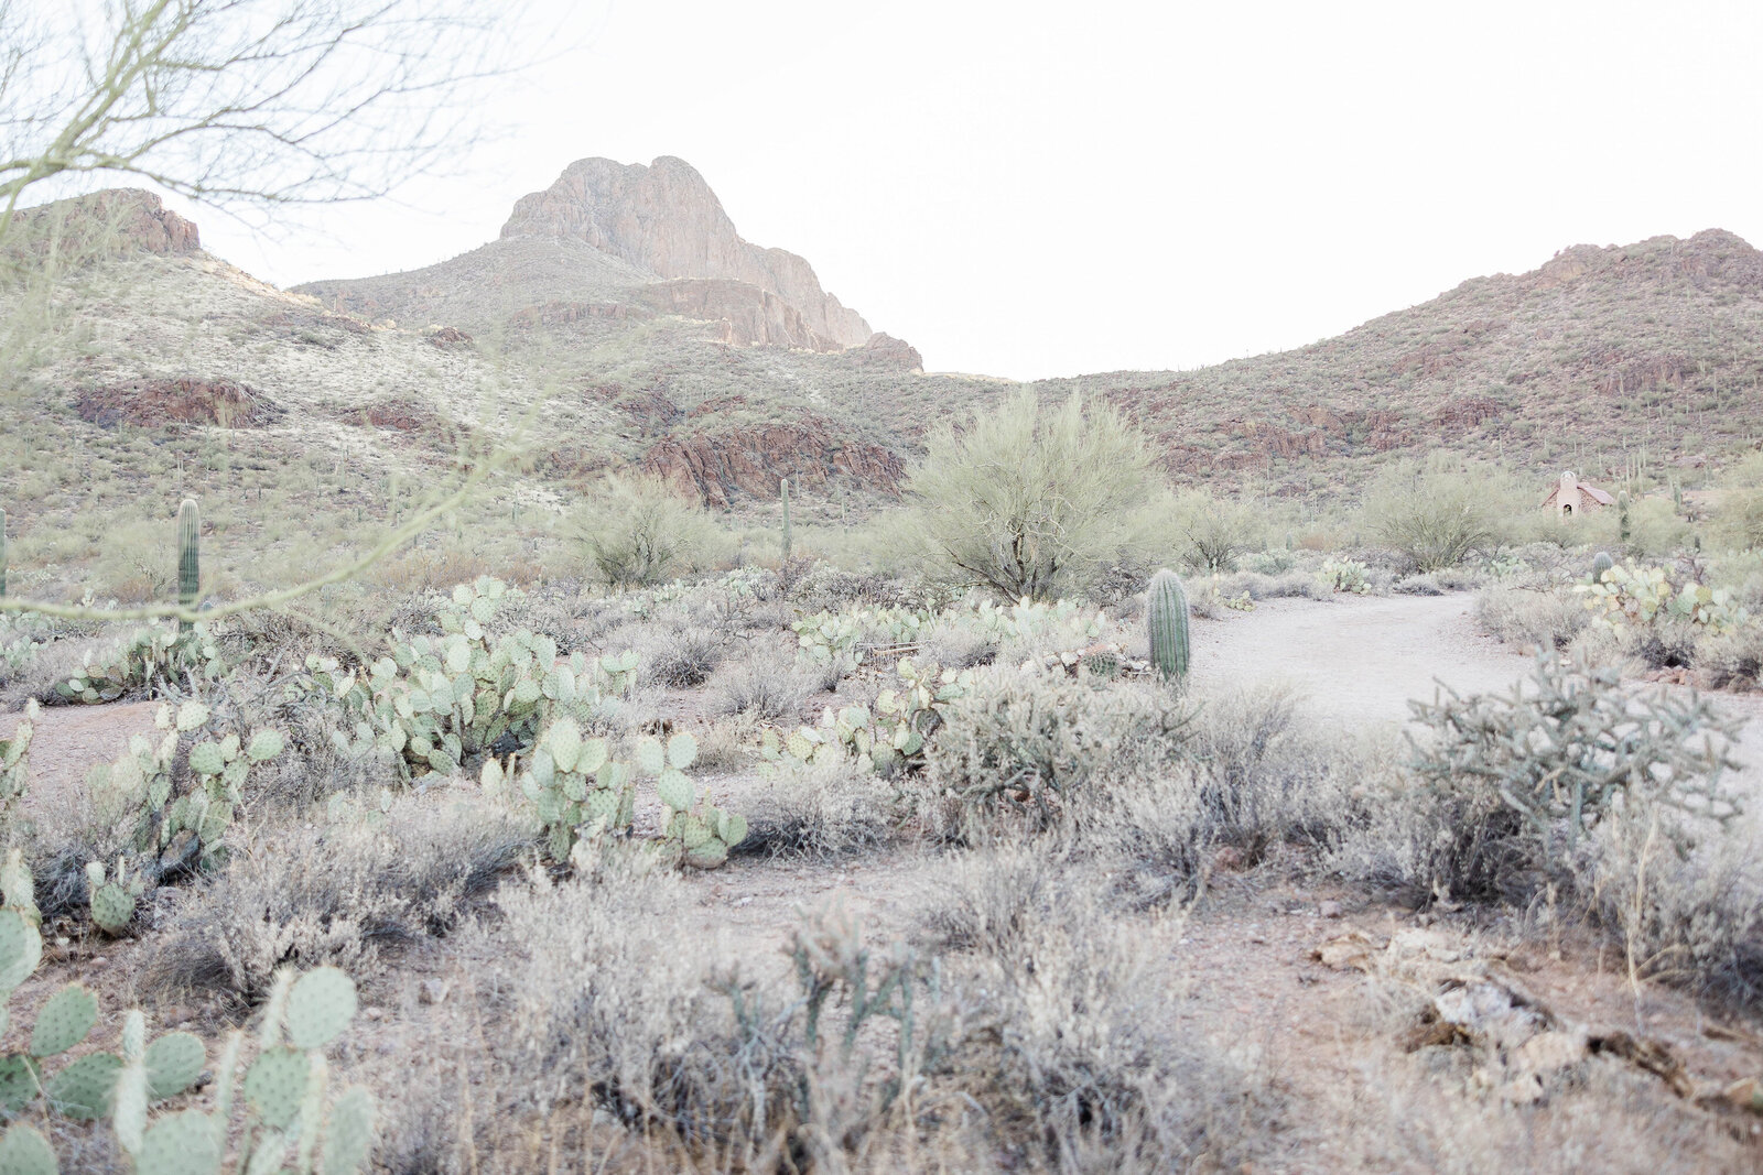
[[[1523,902],[1569,881],[1580,840],[1617,810],[1737,812],[1737,728],[1703,698],[1631,694],[1618,671],[1548,650],[1511,694],[1410,705],[1423,733],[1407,787],[1372,810],[1391,879],[1417,893]]]

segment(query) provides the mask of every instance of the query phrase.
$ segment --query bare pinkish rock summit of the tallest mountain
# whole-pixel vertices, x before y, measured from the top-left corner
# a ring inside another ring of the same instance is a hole
[[[813,266],[740,240],[716,192],[682,159],[651,166],[582,159],[543,192],[524,196],[502,238],[578,240],[666,278],[746,282],[793,307],[804,329],[839,347],[869,342],[869,324],[820,287]]]

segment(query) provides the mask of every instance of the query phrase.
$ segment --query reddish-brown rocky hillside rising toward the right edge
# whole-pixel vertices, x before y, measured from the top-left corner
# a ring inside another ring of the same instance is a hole
[[[1647,462],[1694,479],[1763,435],[1759,379],[1763,254],[1710,229],[1576,245],[1298,351],[1081,382],[1157,435],[1178,477],[1301,495],[1432,447],[1539,476]]]

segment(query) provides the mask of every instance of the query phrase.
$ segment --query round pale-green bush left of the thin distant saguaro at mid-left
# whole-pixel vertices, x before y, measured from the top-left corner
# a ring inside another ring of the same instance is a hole
[[[615,477],[589,506],[587,553],[615,587],[668,580],[710,543],[703,507],[686,502],[659,477]]]

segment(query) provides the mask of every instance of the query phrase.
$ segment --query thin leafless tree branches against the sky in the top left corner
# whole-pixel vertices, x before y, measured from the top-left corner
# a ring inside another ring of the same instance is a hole
[[[0,236],[35,185],[381,196],[458,151],[502,0],[0,0]]]

